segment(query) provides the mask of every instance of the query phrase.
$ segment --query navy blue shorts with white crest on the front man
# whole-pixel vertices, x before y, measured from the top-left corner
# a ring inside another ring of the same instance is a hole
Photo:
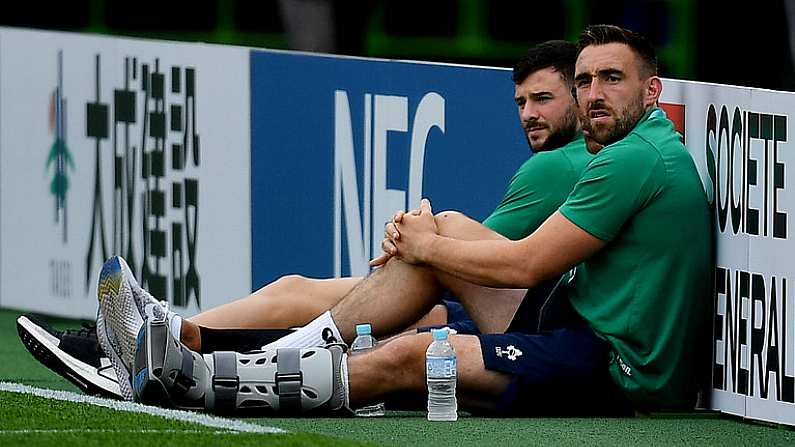
[[[504,334],[481,334],[460,303],[444,304],[447,326],[478,336],[486,369],[511,376],[496,409],[484,415],[634,414],[610,377],[610,344],[571,308],[562,281],[529,291]]]

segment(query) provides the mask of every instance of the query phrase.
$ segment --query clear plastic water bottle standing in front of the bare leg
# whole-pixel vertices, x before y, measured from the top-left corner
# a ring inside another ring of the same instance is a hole
[[[425,351],[425,378],[428,385],[428,420],[458,420],[455,397],[457,360],[447,339],[447,328],[431,330],[433,342]]]

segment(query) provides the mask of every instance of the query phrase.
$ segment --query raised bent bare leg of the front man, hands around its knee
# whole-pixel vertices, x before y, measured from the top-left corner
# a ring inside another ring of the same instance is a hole
[[[439,213],[436,223],[440,233],[460,239],[503,237],[460,213]],[[373,323],[376,336],[392,334],[427,313],[443,287],[458,296],[483,332],[505,331],[526,293],[477,286],[427,266],[391,259],[335,305],[332,317],[347,342],[353,340],[356,324],[362,321]]]

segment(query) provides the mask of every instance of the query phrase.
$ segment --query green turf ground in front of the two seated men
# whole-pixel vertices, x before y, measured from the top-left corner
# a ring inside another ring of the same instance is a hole
[[[0,381],[77,391],[36,362],[16,334],[17,312],[0,310]],[[51,320],[74,327],[69,320]],[[288,434],[225,433],[215,428],[90,404],[0,392],[0,445],[792,445],[795,431],[716,413],[620,419],[488,419],[463,416],[430,423],[422,413],[388,412],[384,418],[246,418]],[[146,429],[148,432],[140,432]],[[18,430],[39,430],[20,433]],[[367,444],[363,444],[367,443]]]

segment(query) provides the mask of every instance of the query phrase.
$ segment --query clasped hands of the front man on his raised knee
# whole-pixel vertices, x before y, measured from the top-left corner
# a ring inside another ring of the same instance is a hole
[[[424,263],[427,261],[430,244],[437,234],[431,202],[422,199],[419,209],[398,211],[384,225],[384,240],[381,242],[383,253],[371,260],[370,265],[380,267],[392,257],[409,264]]]

